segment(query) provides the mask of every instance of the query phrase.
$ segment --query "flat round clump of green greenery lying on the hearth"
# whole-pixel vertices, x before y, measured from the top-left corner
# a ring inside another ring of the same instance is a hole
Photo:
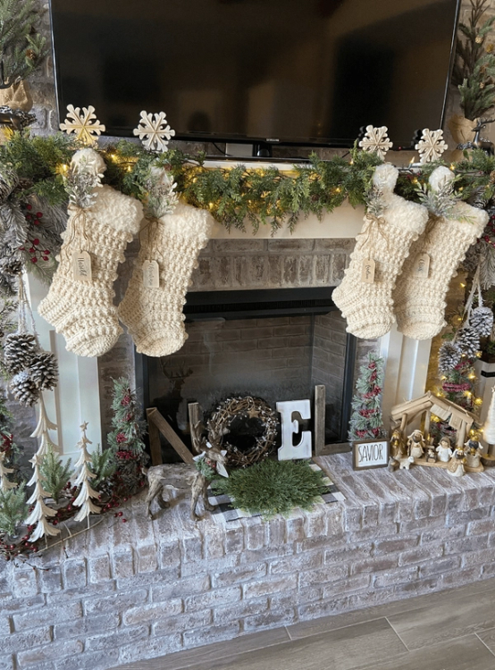
[[[264,518],[287,515],[295,507],[310,510],[326,489],[321,470],[307,461],[273,461],[269,458],[245,469],[234,470],[228,479],[215,479],[215,493],[230,496],[235,507]]]

